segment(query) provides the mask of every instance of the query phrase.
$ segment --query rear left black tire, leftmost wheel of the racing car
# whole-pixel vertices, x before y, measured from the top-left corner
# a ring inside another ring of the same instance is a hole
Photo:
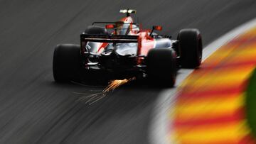
[[[80,70],[80,45],[57,45],[53,53],[53,77],[55,82],[77,81]]]

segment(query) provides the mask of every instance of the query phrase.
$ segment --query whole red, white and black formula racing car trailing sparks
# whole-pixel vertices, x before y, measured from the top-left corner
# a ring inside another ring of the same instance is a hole
[[[148,78],[172,87],[179,67],[201,65],[202,38],[197,29],[183,29],[177,40],[143,30],[134,23],[132,9],[115,22],[94,22],[80,35],[80,45],[57,45],[53,54],[55,82],[85,79]],[[104,27],[102,27],[104,25]]]

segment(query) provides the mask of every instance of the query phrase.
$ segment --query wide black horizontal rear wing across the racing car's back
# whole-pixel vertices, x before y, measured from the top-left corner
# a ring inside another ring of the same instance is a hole
[[[81,34],[82,42],[99,42],[99,43],[138,43],[138,35],[92,35]]]

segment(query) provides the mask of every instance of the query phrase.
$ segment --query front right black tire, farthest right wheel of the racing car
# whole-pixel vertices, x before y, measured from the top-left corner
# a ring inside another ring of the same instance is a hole
[[[183,68],[196,68],[202,61],[202,38],[197,29],[183,29],[178,33],[181,48],[180,64]]]

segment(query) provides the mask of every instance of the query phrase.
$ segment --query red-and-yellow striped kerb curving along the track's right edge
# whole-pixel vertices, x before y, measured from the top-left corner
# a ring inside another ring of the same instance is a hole
[[[256,27],[226,43],[178,87],[169,137],[176,143],[256,143],[245,89],[256,65]]]

